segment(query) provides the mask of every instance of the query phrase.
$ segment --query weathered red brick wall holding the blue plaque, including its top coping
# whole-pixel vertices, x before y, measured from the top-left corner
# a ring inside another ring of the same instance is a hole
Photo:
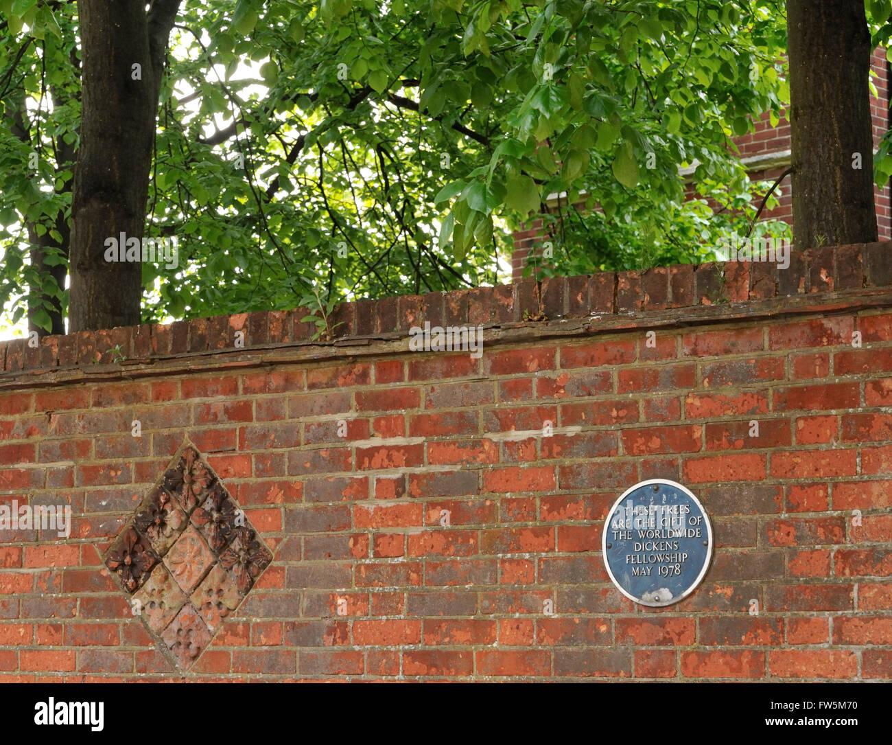
[[[0,680],[888,680],[890,251],[359,302],[337,344],[304,311],[2,344],[0,504],[74,523],[0,534]],[[409,352],[425,319],[483,357]],[[182,674],[102,557],[186,438],[274,558]],[[600,554],[655,477],[716,541],[659,609]]]

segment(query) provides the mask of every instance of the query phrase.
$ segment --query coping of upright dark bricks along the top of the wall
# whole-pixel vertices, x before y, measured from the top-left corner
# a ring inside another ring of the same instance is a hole
[[[33,384],[35,375],[62,370],[79,371],[79,376],[63,376],[71,380],[121,377],[125,369],[133,373],[161,360],[182,361],[209,353],[254,352],[251,357],[262,364],[259,352],[307,347],[301,357],[324,360],[361,353],[369,339],[401,340],[411,327],[423,326],[425,321],[441,327],[498,328],[502,341],[522,342],[541,335],[615,333],[644,325],[888,307],[892,305],[890,287],[892,243],[794,251],[787,269],[770,262],[726,261],[541,282],[530,279],[513,285],[344,302],[333,311],[337,328],[331,341],[313,340],[315,325],[301,322],[310,312],[306,309],[49,335],[37,347],[29,347],[27,339],[13,339],[0,342],[0,385],[21,381],[23,373]],[[532,334],[531,329],[535,329]],[[244,342],[238,347],[237,332]],[[396,344],[395,349],[406,346]],[[163,371],[169,369],[164,366]]]

